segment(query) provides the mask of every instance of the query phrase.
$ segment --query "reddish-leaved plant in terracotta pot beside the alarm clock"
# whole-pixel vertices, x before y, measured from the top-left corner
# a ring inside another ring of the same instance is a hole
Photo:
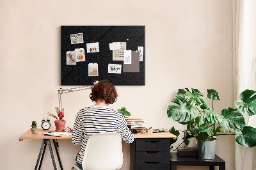
[[[56,121],[54,121],[54,124],[55,124],[55,127],[56,127],[56,132],[62,132],[65,128],[65,124],[66,124],[66,121],[63,120],[63,117],[64,117],[64,108],[60,109],[58,107],[55,107],[55,111],[57,113],[57,116],[55,116],[54,114],[51,114],[49,112],[47,112],[47,114],[49,114],[49,116],[52,116],[53,118],[56,118]]]

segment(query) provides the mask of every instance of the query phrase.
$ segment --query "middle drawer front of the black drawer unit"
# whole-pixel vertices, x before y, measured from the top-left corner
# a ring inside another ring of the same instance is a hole
[[[169,162],[168,151],[136,151],[135,162]]]

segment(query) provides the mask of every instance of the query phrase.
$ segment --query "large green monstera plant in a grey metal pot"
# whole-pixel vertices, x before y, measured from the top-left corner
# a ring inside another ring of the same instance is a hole
[[[207,89],[207,97],[212,99],[212,107],[204,102],[204,95],[198,89],[179,89],[177,96],[171,102],[177,105],[169,105],[168,118],[186,125],[185,132],[198,139],[198,157],[202,159],[214,159],[216,139],[221,133],[242,132],[236,137],[236,142],[242,146],[251,148],[256,146],[256,128],[246,126],[244,115],[256,114],[256,91],[246,89],[240,95],[243,102],[236,102],[236,109],[228,107],[221,113],[215,112],[214,100],[220,100],[218,92]],[[179,133],[172,128],[171,133]],[[177,135],[176,134],[176,135]],[[175,142],[175,141],[173,141]],[[186,139],[188,146],[189,140]],[[213,146],[206,148],[212,144]]]

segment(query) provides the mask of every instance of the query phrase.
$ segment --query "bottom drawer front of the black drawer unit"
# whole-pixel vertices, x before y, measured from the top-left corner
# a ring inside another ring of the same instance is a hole
[[[170,169],[168,162],[135,162],[135,168],[140,170],[166,170]]]

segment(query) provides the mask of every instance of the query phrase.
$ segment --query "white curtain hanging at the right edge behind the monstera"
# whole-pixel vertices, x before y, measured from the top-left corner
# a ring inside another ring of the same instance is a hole
[[[234,55],[234,88],[236,102],[244,89],[256,90],[256,0],[234,0],[236,13],[236,54]],[[256,127],[256,116],[246,118]],[[256,146],[246,148],[236,143],[236,170],[256,169]]]

